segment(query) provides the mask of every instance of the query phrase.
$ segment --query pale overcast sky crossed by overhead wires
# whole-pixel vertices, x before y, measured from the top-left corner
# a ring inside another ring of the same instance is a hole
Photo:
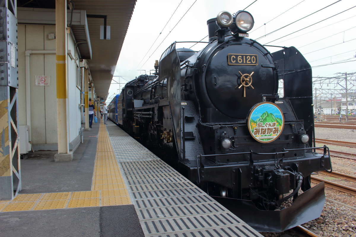
[[[193,6],[192,4],[195,0],[182,0],[181,3],[180,1],[181,0],[137,0],[114,75],[123,76],[127,81],[130,81],[134,79],[135,76],[144,74],[144,71],[138,71],[140,69],[147,70],[147,73],[149,73],[148,70],[153,69],[155,60],[159,60],[163,51],[171,43],[174,41],[199,41],[208,34],[206,26],[207,20],[216,17],[216,15],[223,10],[231,13],[243,10],[254,0],[197,0]],[[246,9],[252,14],[255,20],[255,25],[250,31],[249,38],[260,38],[269,32],[312,14],[336,1],[337,0],[257,0]],[[177,11],[172,16],[179,3],[180,5]],[[273,41],[268,44],[287,47],[294,46],[304,55],[312,66],[335,63],[342,60],[355,60],[355,5],[355,0],[341,0],[303,20],[258,39],[258,42],[266,44]],[[177,24],[190,6],[192,6],[191,9],[172,30],[174,25]],[[290,9],[291,7],[293,8]],[[351,7],[354,8],[347,10]],[[290,10],[287,11],[288,9]],[[282,14],[284,11],[287,12]],[[345,12],[331,17],[342,11]],[[279,14],[282,15],[278,16]],[[171,20],[160,34],[162,28],[166,25],[171,16]],[[298,31],[328,17],[331,18]],[[275,19],[272,20],[273,18]],[[265,23],[266,25],[264,25]],[[163,41],[169,31],[171,31],[171,33]],[[278,39],[294,31],[298,32]],[[157,41],[144,57],[158,35]],[[204,41],[207,40],[208,38],[204,39]],[[158,47],[161,42],[162,44]],[[335,44],[338,45],[329,47]],[[191,46],[192,43],[177,44],[177,48],[189,48]],[[158,49],[155,51],[157,47]],[[203,47],[204,44],[199,43],[192,49],[200,50]],[[279,50],[279,48],[272,47],[267,47],[267,49],[271,52]],[[313,52],[314,50],[318,51]],[[313,76],[334,76],[336,72],[354,71],[356,71],[356,61],[314,68]],[[116,81],[119,80],[118,77],[113,77],[113,79]],[[114,83],[114,81],[112,82]],[[124,80],[120,78],[120,82],[124,82]],[[117,89],[122,86],[123,85],[112,84],[109,89],[109,97],[116,93]]]

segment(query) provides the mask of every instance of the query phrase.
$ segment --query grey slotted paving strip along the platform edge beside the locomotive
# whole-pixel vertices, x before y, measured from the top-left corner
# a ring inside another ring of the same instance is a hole
[[[119,127],[106,128],[146,237],[261,236]]]

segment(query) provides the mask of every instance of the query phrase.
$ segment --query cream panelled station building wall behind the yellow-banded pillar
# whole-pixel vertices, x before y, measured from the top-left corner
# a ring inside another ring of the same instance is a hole
[[[26,50],[56,50],[56,39],[49,39],[49,33],[56,32],[55,25],[19,24],[19,125],[26,125]],[[80,87],[81,80],[78,54],[74,40],[67,34],[68,103],[67,124],[69,126],[69,149],[80,142]],[[75,53],[74,53],[75,52]],[[79,70],[79,71],[78,71]],[[79,75],[78,75],[79,72]],[[36,86],[35,76],[50,76],[49,86]],[[79,81],[79,85],[78,84]],[[31,98],[31,137],[34,150],[58,150],[57,139],[57,93],[56,93],[56,54],[30,55],[30,98]]]

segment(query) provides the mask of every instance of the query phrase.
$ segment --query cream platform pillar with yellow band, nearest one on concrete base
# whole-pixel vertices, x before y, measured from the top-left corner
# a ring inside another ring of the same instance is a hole
[[[56,0],[56,79],[58,154],[54,161],[71,161],[67,126],[67,0]]]

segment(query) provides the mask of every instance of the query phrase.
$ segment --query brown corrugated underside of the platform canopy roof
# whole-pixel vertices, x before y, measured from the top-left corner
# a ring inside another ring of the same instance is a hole
[[[72,2],[74,10],[85,10],[90,15],[106,15],[107,25],[111,27],[110,39],[100,39],[100,26],[104,25],[104,20],[87,18],[92,50],[92,59],[88,60],[90,73],[96,95],[106,97],[136,0],[72,0]],[[55,3],[55,0],[17,0],[18,7],[54,9]]]

